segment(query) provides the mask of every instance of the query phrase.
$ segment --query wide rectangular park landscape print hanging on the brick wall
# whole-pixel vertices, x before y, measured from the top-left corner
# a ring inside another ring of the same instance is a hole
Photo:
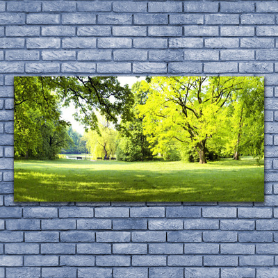
[[[261,76],[15,76],[15,202],[263,202]]]

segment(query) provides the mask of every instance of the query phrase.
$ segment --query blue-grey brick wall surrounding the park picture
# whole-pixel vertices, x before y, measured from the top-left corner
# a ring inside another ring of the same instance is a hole
[[[1,1],[0,277],[278,277],[277,12],[277,1]],[[15,204],[13,76],[42,74],[265,76],[265,202]]]

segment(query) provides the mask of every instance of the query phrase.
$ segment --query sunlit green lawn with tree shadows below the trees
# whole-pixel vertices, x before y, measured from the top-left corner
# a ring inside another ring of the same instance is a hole
[[[183,161],[15,161],[15,202],[263,202],[252,158]]]

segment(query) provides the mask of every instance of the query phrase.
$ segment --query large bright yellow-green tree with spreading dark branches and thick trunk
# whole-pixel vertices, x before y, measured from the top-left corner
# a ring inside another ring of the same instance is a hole
[[[194,148],[199,163],[206,163],[208,142],[221,130],[226,107],[247,77],[152,77],[142,81],[146,104],[138,106],[145,134],[154,152],[163,153],[172,140]]]

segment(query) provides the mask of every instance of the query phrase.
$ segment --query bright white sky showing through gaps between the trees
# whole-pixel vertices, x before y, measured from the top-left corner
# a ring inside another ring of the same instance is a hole
[[[142,81],[145,79],[145,76],[141,76],[139,78],[135,76],[118,76],[117,79],[120,81],[121,85],[128,84],[129,88],[136,83],[136,81]],[[79,122],[76,122],[74,120],[74,116],[72,115],[75,111],[74,105],[70,104],[69,107],[63,107],[62,108],[62,118],[63,120],[66,120],[67,122],[71,122],[72,129],[77,131],[78,133],[81,133],[83,135],[84,128],[83,125],[81,125]]]

